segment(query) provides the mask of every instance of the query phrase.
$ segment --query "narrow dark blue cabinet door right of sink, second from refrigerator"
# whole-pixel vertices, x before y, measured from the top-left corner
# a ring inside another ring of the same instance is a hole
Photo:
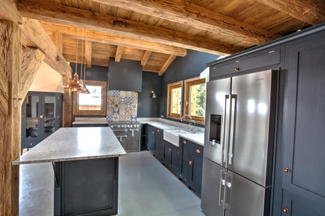
[[[189,150],[189,141],[180,138],[178,173],[179,173],[179,177],[185,183],[187,183],[187,178],[188,178],[188,150]]]

